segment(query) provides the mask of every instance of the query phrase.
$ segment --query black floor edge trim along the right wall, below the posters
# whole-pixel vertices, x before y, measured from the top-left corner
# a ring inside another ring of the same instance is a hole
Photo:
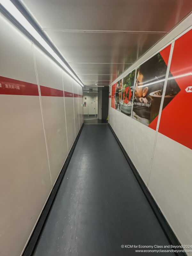
[[[159,209],[158,205],[156,204],[153,196],[151,195],[151,193],[149,192],[147,186],[145,185],[144,181],[142,180],[139,172],[137,171],[137,169],[135,168],[134,164],[132,163],[130,157],[128,156],[127,152],[125,151],[123,145],[121,144],[120,140],[118,139],[118,137],[116,136],[116,133],[113,131],[113,128],[111,127],[110,124],[108,124],[117,143],[119,144],[119,147],[121,148],[133,174],[135,175],[144,195],[146,196],[153,212],[156,215],[157,220],[159,221],[161,228],[163,229],[167,239],[169,240],[169,243],[175,246],[181,246],[179,240],[177,239],[177,237],[175,236],[174,232],[172,231],[172,228],[169,226],[167,220],[165,219],[163,213],[161,212],[161,210]],[[170,248],[171,249],[171,248]],[[183,248],[177,248],[176,250],[183,250]],[[175,252],[175,255],[177,256],[187,256],[187,254],[185,252]]]

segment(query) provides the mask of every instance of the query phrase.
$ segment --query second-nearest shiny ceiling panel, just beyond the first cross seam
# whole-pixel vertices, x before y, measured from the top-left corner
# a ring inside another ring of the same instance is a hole
[[[54,44],[69,63],[132,64],[164,36],[162,33],[46,33],[54,38]]]

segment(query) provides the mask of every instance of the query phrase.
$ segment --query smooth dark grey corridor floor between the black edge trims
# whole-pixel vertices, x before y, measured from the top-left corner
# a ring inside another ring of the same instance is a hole
[[[156,255],[127,244],[169,243],[108,125],[84,125],[34,255]]]

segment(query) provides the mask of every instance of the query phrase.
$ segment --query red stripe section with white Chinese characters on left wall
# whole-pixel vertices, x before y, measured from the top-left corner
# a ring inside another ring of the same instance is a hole
[[[0,76],[0,94],[38,96],[37,84]]]

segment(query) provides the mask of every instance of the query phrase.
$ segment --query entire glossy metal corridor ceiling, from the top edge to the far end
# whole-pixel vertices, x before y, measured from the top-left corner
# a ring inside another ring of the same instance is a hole
[[[22,0],[84,85],[108,86],[192,11],[191,0]]]

